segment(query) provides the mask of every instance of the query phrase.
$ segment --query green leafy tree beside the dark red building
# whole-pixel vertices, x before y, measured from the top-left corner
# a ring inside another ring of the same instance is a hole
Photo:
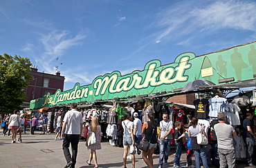
[[[0,55],[0,113],[12,113],[26,101],[24,88],[33,80],[30,60],[9,54]]]

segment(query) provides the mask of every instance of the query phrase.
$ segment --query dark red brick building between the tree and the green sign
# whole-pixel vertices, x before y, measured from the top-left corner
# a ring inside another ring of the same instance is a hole
[[[36,98],[44,97],[44,94],[55,94],[56,90],[63,91],[64,88],[64,76],[60,76],[60,71],[56,74],[46,74],[44,72],[37,72],[37,66],[32,65],[30,75],[34,76],[32,81],[29,81],[27,88],[24,88],[26,93],[26,101],[23,103],[24,108],[28,108],[30,101]]]

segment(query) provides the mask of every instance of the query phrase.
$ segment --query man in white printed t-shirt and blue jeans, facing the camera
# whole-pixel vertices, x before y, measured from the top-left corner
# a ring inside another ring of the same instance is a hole
[[[168,162],[168,156],[171,149],[172,141],[172,120],[168,119],[167,112],[163,113],[163,120],[160,122],[160,130],[158,134],[159,141],[159,163],[158,168],[163,167],[163,162]]]

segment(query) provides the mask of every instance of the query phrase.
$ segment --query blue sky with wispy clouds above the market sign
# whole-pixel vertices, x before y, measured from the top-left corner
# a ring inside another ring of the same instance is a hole
[[[0,4],[0,54],[65,76],[64,90],[115,70],[128,74],[183,52],[256,40],[254,0],[17,0]],[[57,59],[58,58],[58,59]]]

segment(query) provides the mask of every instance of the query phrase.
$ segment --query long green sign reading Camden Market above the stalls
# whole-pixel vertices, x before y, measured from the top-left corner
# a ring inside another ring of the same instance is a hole
[[[94,102],[97,99],[111,100],[119,97],[173,92],[190,81],[205,79],[218,84],[219,79],[234,77],[245,81],[256,74],[256,41],[196,56],[185,52],[176,57],[174,63],[161,65],[161,61],[149,61],[144,70],[123,75],[114,71],[97,76],[90,85],[76,83],[72,90],[45,94],[43,98],[30,101],[30,109],[51,107],[73,102]]]

